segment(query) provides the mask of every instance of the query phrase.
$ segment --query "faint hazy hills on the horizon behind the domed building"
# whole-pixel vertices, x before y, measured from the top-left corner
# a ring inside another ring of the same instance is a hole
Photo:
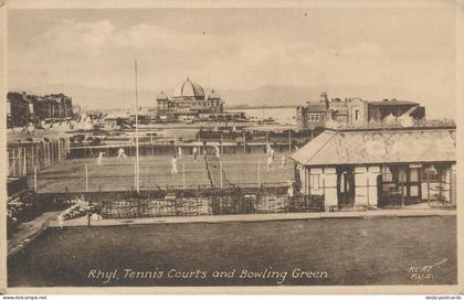
[[[48,85],[24,89],[31,94],[64,93],[73,97],[73,103],[91,109],[129,108],[134,107],[135,94],[131,89],[97,88],[80,85]],[[204,87],[204,90],[211,88]],[[265,85],[255,89],[220,89],[218,90],[226,106],[295,106],[307,100],[317,101],[320,92],[328,92],[329,97],[361,97],[365,99],[400,98],[403,90],[396,89],[386,93],[389,88],[371,86],[278,86]],[[156,106],[158,90],[139,90],[139,105],[143,107]],[[169,92],[168,92],[169,94]]]

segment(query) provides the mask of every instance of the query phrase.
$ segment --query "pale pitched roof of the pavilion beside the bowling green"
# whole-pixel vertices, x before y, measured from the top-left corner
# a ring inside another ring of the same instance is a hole
[[[304,165],[456,160],[454,128],[326,130],[292,156]]]

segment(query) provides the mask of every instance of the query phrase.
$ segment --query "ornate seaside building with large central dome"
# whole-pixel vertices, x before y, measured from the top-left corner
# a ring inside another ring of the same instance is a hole
[[[205,96],[203,88],[187,78],[178,85],[169,97],[164,92],[157,97],[157,115],[164,120],[177,120],[179,116],[198,117],[199,114],[222,114],[223,101],[211,90]]]

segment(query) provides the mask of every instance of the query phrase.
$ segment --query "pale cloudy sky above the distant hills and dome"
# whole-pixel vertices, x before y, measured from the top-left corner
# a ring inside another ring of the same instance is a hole
[[[9,10],[8,83],[131,88],[137,58],[147,90],[187,76],[217,89],[388,86],[453,114],[454,22],[445,8]]]

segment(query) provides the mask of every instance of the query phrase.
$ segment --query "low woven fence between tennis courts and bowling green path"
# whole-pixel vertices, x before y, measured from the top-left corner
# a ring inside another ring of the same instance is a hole
[[[104,218],[321,212],[321,196],[289,197],[287,188],[40,194],[42,199],[85,199]]]

